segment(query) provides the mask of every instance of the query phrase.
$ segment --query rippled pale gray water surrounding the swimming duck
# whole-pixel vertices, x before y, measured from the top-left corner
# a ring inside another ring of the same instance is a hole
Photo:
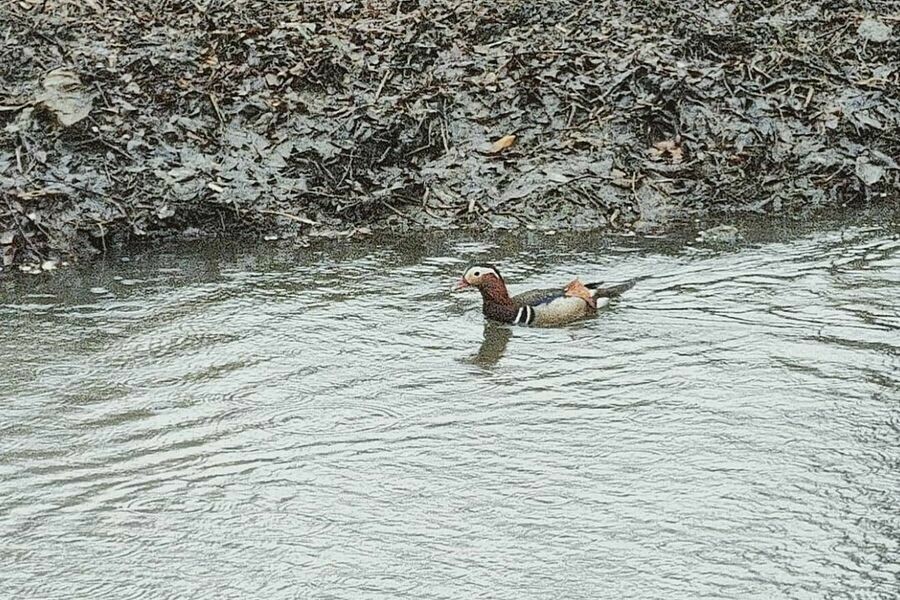
[[[897,598],[900,228],[783,229],[0,282],[0,594]],[[646,279],[513,330],[448,293],[488,259],[518,289]]]

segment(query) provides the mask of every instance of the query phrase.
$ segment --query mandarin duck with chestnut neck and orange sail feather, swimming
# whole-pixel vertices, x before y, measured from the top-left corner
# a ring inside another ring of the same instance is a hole
[[[482,312],[492,321],[509,325],[554,327],[595,315],[615,298],[634,287],[634,280],[607,285],[574,279],[558,288],[542,288],[510,296],[506,281],[496,266],[472,265],[453,286],[454,292],[481,292]]]

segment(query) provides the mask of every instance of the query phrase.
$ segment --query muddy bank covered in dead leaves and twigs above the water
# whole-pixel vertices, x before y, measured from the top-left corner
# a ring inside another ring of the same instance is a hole
[[[898,30],[890,0],[4,3],[0,265],[896,204]]]

